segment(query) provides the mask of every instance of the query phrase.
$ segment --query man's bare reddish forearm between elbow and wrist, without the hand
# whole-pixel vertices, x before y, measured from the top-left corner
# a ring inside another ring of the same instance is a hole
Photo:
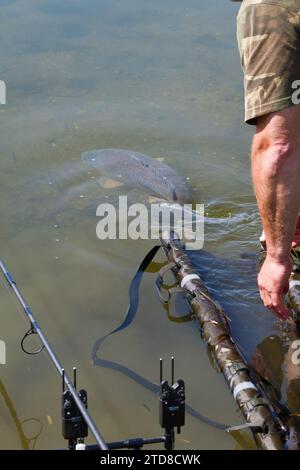
[[[269,141],[262,145],[261,136],[255,136],[252,175],[268,255],[286,260],[300,209],[300,146]]]

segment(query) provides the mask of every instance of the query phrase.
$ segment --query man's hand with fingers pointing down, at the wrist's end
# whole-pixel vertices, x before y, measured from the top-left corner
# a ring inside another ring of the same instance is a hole
[[[265,307],[272,309],[281,320],[287,320],[291,316],[291,312],[283,302],[283,296],[289,289],[291,271],[290,259],[278,261],[267,254],[257,278]]]

